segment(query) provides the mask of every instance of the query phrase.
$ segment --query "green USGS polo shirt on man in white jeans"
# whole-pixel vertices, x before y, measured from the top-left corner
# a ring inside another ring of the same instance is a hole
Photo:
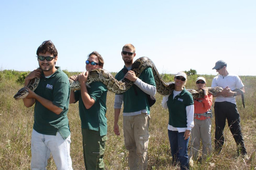
[[[45,78],[42,72],[42,77],[34,92],[52,101],[54,105],[63,109],[63,111],[57,115],[36,100],[33,129],[45,135],[56,135],[59,132],[63,139],[66,139],[70,135],[67,117],[70,85],[67,74],[61,71],[60,67],[56,68],[57,70],[49,78]]]

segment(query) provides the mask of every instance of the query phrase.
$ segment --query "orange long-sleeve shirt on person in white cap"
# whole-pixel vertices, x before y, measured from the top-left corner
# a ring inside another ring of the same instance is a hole
[[[194,107],[195,107],[194,113],[197,113],[197,114],[205,113],[208,111],[208,109],[211,108],[211,106],[212,106],[212,94],[208,94],[208,96],[204,96],[204,98],[197,98],[196,100],[194,100]],[[198,120],[205,120],[208,118],[210,117],[200,116],[199,118],[198,115],[195,117],[195,119],[198,119]]]

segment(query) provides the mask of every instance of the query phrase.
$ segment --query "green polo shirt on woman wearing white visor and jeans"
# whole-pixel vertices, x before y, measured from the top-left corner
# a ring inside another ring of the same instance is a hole
[[[186,107],[193,104],[193,97],[185,87],[180,94],[174,97],[174,99],[172,92],[167,101],[169,125],[172,125],[175,128],[187,128]]]

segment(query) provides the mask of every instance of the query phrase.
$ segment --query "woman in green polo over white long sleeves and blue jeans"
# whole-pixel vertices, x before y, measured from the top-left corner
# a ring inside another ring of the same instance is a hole
[[[179,161],[181,169],[189,169],[188,141],[194,126],[194,101],[186,90],[187,75],[178,72],[174,77],[175,88],[163,97],[162,106],[169,110],[168,137],[171,146],[172,163]]]

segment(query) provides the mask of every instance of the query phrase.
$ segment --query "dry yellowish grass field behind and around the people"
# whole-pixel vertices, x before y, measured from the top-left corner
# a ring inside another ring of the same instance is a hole
[[[30,138],[33,127],[33,107],[26,108],[22,100],[15,101],[13,95],[22,85],[16,83],[20,72],[13,70],[0,71],[0,170],[26,170],[30,169]],[[69,75],[72,73],[68,73]],[[213,75],[202,75],[211,86]],[[162,76],[165,82],[173,81],[173,76]],[[189,76],[186,88],[195,89],[197,75]],[[225,143],[221,154],[213,153],[212,157],[202,163],[194,163],[191,169],[256,169],[256,77],[240,76],[245,85],[245,106],[242,107],[241,97],[237,97],[237,106],[241,116],[242,133],[249,160],[237,155],[236,143],[226,126]],[[106,142],[104,162],[108,170],[128,169],[128,152],[124,146],[122,116],[119,118],[121,135],[113,132],[114,123],[114,97],[108,92],[107,113],[108,141]],[[148,148],[149,170],[173,170],[179,167],[171,165],[170,146],[167,134],[168,110],[161,106],[162,96],[156,94],[156,103],[151,107],[150,140]],[[70,105],[68,118],[71,129],[71,158],[74,170],[83,170],[83,147],[81,135],[81,122],[78,113],[78,103]],[[212,118],[212,141],[214,139],[214,117]],[[55,170],[52,157],[48,160],[47,169]]]

